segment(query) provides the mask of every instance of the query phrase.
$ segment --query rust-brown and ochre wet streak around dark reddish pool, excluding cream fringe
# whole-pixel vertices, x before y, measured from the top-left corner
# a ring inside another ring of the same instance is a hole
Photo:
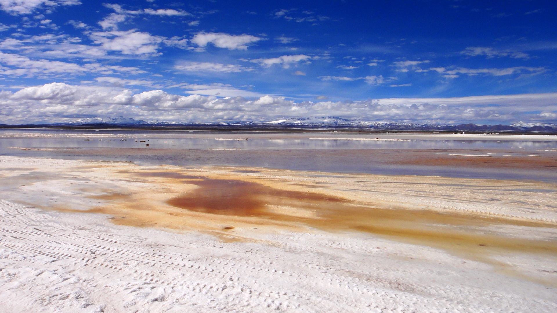
[[[477,228],[489,225],[556,227],[549,222],[401,207],[385,208],[313,191],[280,189],[280,183],[264,180],[255,182],[253,180],[261,179],[253,178],[210,178],[173,172],[128,174],[162,179],[167,184],[189,185],[189,191],[176,193],[160,205],[145,199],[115,200],[110,206],[96,208],[92,212],[126,217],[115,218],[114,222],[142,227],[193,227],[213,231],[253,226],[287,229],[310,227],[326,231],[369,232],[467,253],[497,250],[551,253],[557,256],[557,243],[552,241],[509,238],[477,231]],[[150,194],[150,197],[158,198],[154,194]]]

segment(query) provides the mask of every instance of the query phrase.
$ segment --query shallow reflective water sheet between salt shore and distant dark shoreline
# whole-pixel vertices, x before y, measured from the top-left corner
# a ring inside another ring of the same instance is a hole
[[[1,129],[0,155],[557,181],[546,135]]]

